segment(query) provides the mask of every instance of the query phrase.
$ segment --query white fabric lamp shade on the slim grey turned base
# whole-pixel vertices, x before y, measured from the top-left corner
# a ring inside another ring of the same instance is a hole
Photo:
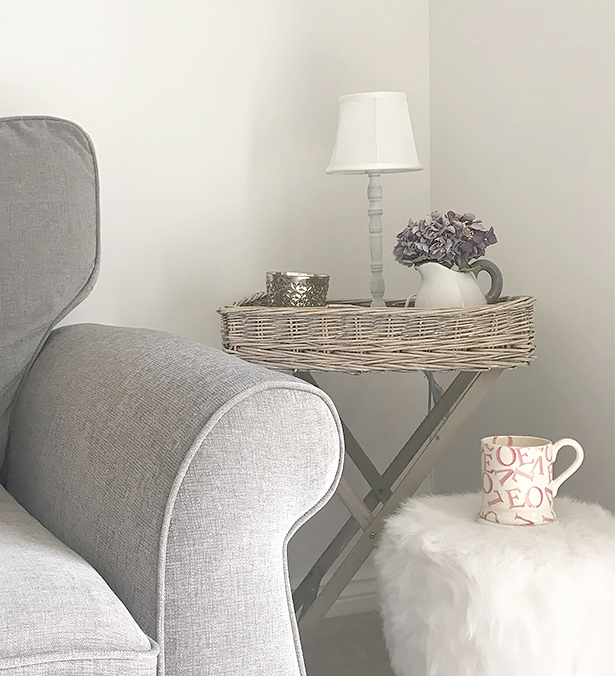
[[[340,96],[337,138],[328,174],[420,171],[408,97],[403,92]]]

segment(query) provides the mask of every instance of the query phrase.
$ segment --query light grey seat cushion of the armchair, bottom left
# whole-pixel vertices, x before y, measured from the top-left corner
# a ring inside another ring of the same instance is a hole
[[[0,676],[155,676],[157,654],[94,568],[0,486]]]

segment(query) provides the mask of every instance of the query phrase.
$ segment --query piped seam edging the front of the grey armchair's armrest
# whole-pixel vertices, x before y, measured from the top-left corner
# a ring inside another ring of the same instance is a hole
[[[316,512],[318,512],[323,505],[325,505],[333,496],[335,493],[335,490],[337,488],[337,485],[339,483],[339,480],[342,475],[342,469],[344,466],[344,436],[343,436],[343,431],[342,431],[342,425],[339,419],[339,416],[337,414],[337,411],[335,410],[335,406],[333,405],[333,402],[331,401],[331,398],[324,393],[321,390],[318,390],[314,388],[312,385],[309,385],[307,383],[302,383],[297,381],[292,382],[292,381],[271,381],[268,383],[263,383],[261,385],[255,385],[252,386],[251,388],[245,390],[244,392],[241,392],[240,394],[234,396],[232,399],[229,399],[225,404],[223,404],[212,416],[211,418],[207,421],[206,425],[203,427],[203,429],[199,432],[199,434],[196,436],[195,440],[193,441],[192,445],[190,446],[190,449],[186,453],[186,456],[182,460],[182,463],[179,467],[179,470],[177,472],[177,475],[175,476],[175,479],[173,481],[173,484],[171,486],[171,490],[169,492],[169,497],[167,498],[167,503],[165,505],[165,510],[164,510],[164,516],[163,516],[163,521],[162,521],[162,528],[160,532],[160,541],[159,541],[159,548],[158,548],[158,589],[157,589],[157,595],[156,595],[156,625],[157,625],[157,639],[158,639],[158,644],[160,646],[160,656],[159,656],[159,676],[165,676],[165,655],[164,655],[164,620],[165,620],[165,585],[166,585],[166,559],[167,559],[167,543],[168,543],[168,537],[169,537],[169,531],[170,531],[170,526],[171,526],[171,519],[173,517],[173,509],[175,507],[175,502],[177,500],[177,496],[179,495],[179,491],[181,490],[184,478],[186,477],[190,466],[192,464],[192,461],[196,457],[199,448],[202,446],[203,442],[207,438],[207,436],[210,434],[210,432],[216,427],[216,425],[220,422],[220,420],[227,414],[229,413],[233,408],[244,402],[246,399],[249,399],[250,397],[257,395],[261,392],[267,391],[267,390],[295,390],[295,391],[302,391],[302,392],[308,392],[309,394],[312,394],[316,397],[319,397],[327,406],[329,409],[329,412],[331,413],[331,417],[335,423],[335,426],[337,428],[338,432],[338,439],[339,439],[339,459],[338,459],[338,466],[335,472],[335,477],[333,479],[333,482],[329,489],[326,491],[326,493],[318,500],[318,502],[307,512],[305,512],[302,516],[300,516],[297,521],[292,525],[290,528],[288,534],[286,535],[284,539],[284,549],[286,549],[288,541],[290,538],[293,536],[293,534],[308,520],[310,517],[312,517]],[[286,577],[286,597],[287,597],[287,604],[288,604],[288,612],[290,615],[290,620],[291,620],[291,626],[292,626],[292,631],[293,631],[293,639],[295,642],[295,650],[297,652],[297,659],[298,663],[301,665],[301,672],[302,676],[305,676],[305,671],[303,668],[303,661],[301,658],[301,642],[299,638],[299,631],[297,628],[297,624],[295,621],[295,611],[294,611],[294,606],[293,606],[293,600],[292,600],[292,591],[290,588],[290,582],[289,582],[289,576],[288,576],[288,561],[286,556],[283,557],[284,559],[284,574]]]

